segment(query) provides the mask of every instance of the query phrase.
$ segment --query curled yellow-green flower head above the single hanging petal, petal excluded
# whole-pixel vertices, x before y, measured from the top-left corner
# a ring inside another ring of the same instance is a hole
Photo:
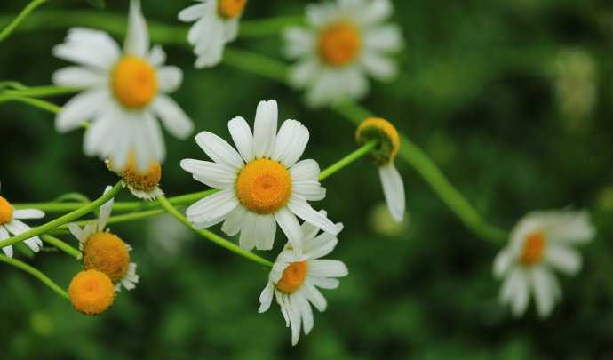
[[[378,140],[377,148],[370,152],[375,164],[383,166],[394,161],[400,150],[400,136],[393,124],[380,117],[370,117],[358,126],[355,133],[358,144],[364,145],[370,140]]]

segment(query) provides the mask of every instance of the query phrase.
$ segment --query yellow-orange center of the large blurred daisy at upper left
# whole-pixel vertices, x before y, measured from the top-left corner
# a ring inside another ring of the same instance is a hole
[[[113,93],[126,108],[143,108],[155,98],[155,68],[136,56],[124,56],[113,71]]]

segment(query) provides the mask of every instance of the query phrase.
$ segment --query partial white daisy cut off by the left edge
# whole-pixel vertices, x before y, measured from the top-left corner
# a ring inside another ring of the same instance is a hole
[[[36,209],[17,210],[12,207],[4,197],[0,196],[0,241],[11,237],[11,234],[18,236],[31,228],[20,220],[42,219],[44,212]],[[43,247],[43,241],[38,236],[30,237],[24,241],[30,250],[39,252]],[[12,245],[4,246],[2,251],[6,256],[12,258]]]

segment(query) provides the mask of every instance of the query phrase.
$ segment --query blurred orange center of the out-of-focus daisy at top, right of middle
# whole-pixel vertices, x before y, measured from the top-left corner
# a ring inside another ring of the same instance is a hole
[[[360,30],[347,22],[325,28],[319,37],[319,55],[329,65],[347,65],[357,58],[361,49]]]

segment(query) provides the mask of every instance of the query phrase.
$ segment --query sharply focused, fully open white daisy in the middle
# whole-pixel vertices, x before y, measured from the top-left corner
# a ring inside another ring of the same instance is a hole
[[[276,224],[299,246],[302,236],[296,216],[333,235],[338,229],[308,201],[322,200],[319,165],[299,161],[308,142],[308,130],[296,120],[286,120],[277,134],[277,104],[261,101],[253,133],[243,117],[227,123],[238,152],[211,132],[195,140],[213,162],[185,159],[181,167],[195,180],[220,191],[187,209],[187,219],[196,228],[209,228],[224,221],[228,236],[240,233],[241,247],[270,250]]]

